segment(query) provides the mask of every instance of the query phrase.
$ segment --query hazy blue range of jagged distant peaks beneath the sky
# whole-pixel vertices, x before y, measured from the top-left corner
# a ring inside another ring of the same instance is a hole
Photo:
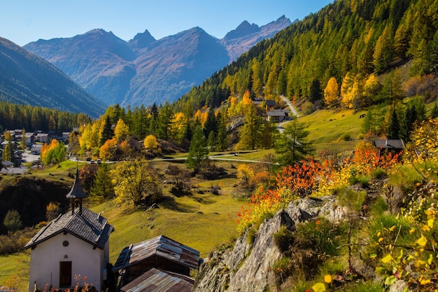
[[[175,101],[290,24],[284,16],[262,27],[244,21],[223,39],[199,27],[159,40],[146,30],[129,41],[93,29],[71,38],[38,40],[24,48],[107,105],[148,106]]]

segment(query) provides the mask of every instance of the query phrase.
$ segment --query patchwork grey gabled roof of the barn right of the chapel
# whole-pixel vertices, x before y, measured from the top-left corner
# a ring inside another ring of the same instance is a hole
[[[126,246],[120,252],[114,264],[113,271],[118,271],[146,260],[151,256],[167,258],[181,265],[197,269],[199,265],[199,251],[189,246],[160,235],[151,239]]]

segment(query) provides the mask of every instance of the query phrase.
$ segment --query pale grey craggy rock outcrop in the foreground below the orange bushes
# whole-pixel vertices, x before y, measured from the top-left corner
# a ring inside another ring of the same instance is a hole
[[[320,212],[332,220],[341,218],[344,209],[333,197],[302,199],[291,202],[287,209],[278,211],[260,225],[253,242],[248,242],[248,231],[236,239],[232,248],[215,251],[199,272],[194,292],[263,292],[277,291],[270,267],[281,258],[274,243],[274,233],[285,225],[292,230],[295,223],[318,216]]]

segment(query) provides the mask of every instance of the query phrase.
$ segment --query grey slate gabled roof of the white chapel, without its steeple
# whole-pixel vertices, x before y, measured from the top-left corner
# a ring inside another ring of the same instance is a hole
[[[77,208],[73,215],[71,212],[59,215],[58,218],[45,225],[24,247],[29,249],[59,233],[68,232],[99,249],[104,249],[112,231],[113,226],[109,225],[106,218],[100,214],[86,208],[83,208],[82,214],[79,214]]]

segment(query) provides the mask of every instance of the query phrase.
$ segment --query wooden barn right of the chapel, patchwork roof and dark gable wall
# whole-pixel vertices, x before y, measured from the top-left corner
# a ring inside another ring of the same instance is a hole
[[[199,267],[199,251],[160,235],[126,246],[113,266],[120,275],[119,286],[134,281],[152,268],[190,276]]]

